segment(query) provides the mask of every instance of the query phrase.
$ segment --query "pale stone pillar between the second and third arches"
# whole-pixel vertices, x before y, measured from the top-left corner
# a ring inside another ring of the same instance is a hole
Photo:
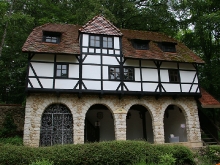
[[[115,118],[115,140],[126,140],[126,115],[124,109],[114,111]]]

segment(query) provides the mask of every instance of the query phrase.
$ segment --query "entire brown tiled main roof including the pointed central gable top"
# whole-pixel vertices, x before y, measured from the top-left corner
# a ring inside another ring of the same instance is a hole
[[[43,31],[61,32],[61,42],[59,44],[46,43],[42,41]],[[139,58],[149,60],[175,61],[204,63],[196,54],[194,54],[184,44],[168,37],[162,33],[117,29],[113,24],[102,16],[96,16],[84,26],[69,24],[45,24],[36,27],[27,38],[23,52],[41,52],[41,53],[60,53],[60,54],[80,54],[79,32],[116,35],[122,36],[122,52],[124,57]],[[136,50],[131,43],[132,39],[148,40],[149,50]],[[159,42],[171,42],[176,44],[176,53],[163,52]]]

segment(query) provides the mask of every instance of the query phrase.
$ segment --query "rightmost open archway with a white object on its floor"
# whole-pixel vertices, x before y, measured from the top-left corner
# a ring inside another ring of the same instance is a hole
[[[164,113],[165,143],[187,142],[186,120],[183,111],[169,105]]]

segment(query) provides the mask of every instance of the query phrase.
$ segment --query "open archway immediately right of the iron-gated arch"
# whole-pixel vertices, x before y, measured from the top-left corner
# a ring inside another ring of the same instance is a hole
[[[115,140],[114,119],[111,111],[102,104],[89,108],[85,118],[85,142]]]

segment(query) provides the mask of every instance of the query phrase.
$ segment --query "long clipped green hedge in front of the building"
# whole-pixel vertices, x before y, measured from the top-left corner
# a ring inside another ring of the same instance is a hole
[[[31,148],[0,143],[0,164],[30,164],[39,160],[49,160],[54,165],[129,165],[151,159],[147,163],[159,163],[160,160],[176,164],[194,164],[192,153],[185,147],[151,145],[144,141],[112,141],[77,145],[57,145],[52,147]],[[187,152],[190,155],[184,154]],[[179,152],[177,154],[176,152]],[[155,153],[158,153],[156,156]],[[161,157],[161,155],[164,155]],[[168,155],[168,156],[167,156]],[[185,155],[186,157],[178,157]],[[191,160],[191,161],[189,161]]]

